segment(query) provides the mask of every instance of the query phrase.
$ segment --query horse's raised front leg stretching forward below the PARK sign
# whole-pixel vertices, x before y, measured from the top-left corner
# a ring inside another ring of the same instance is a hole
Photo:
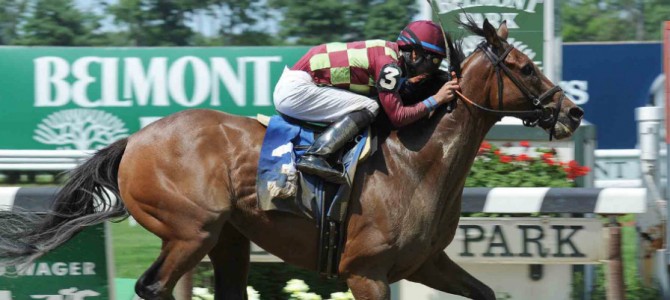
[[[407,279],[445,293],[471,299],[496,299],[495,293],[490,287],[463,270],[444,251],[437,252],[427,259]]]

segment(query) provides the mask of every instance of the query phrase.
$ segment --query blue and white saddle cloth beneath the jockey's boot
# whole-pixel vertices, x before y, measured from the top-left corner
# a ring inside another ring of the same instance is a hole
[[[269,118],[269,122],[267,116],[259,115],[257,119],[267,126],[256,176],[259,207],[311,218],[317,224],[324,216],[327,220],[342,221],[356,166],[372,153],[370,129],[343,147],[341,154],[334,155],[334,161],[340,162],[336,167],[344,169],[348,177],[348,183],[338,186],[317,176],[301,174],[295,168],[297,158],[320,133],[318,126],[299,124],[278,115]]]

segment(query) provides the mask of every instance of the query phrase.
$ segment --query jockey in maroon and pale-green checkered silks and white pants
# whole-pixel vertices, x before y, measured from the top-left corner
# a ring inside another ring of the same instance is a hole
[[[391,123],[402,127],[453,100],[456,80],[414,105],[403,105],[398,93],[408,82],[437,71],[445,57],[442,29],[431,21],[410,23],[395,43],[367,40],[310,49],[284,70],[274,90],[281,114],[331,123],[298,160],[298,170],[343,183],[343,173],[326,160],[372,123],[380,104]],[[374,95],[379,100],[370,98]]]

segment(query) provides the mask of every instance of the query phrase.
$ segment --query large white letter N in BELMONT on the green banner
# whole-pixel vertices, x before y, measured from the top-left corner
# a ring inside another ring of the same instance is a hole
[[[233,67],[223,57],[213,57],[210,61],[212,65],[212,105],[221,105],[221,94],[219,91],[219,82],[223,83],[233,98],[237,106],[245,106],[245,87],[246,87],[246,67],[238,58],[238,75],[235,76]]]

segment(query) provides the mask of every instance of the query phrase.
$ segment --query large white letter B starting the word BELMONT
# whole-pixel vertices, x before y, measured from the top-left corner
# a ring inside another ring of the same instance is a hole
[[[63,106],[70,99],[70,85],[65,78],[70,73],[66,60],[55,56],[35,59],[35,106]],[[52,95],[52,88],[55,95]]]

